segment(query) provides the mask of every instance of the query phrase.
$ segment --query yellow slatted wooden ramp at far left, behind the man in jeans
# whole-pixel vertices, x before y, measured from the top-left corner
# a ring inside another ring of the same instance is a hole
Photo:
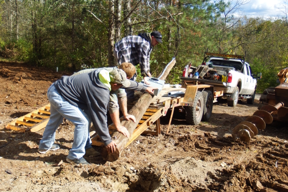
[[[8,123],[5,128],[20,132],[36,132],[46,127],[50,118],[50,104]]]

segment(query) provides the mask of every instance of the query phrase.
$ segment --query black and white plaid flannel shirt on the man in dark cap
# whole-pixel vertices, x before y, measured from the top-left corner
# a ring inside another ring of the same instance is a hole
[[[140,64],[141,73],[150,72],[150,54],[152,46],[140,36],[128,36],[115,44],[118,64],[124,62],[132,63],[136,66]]]

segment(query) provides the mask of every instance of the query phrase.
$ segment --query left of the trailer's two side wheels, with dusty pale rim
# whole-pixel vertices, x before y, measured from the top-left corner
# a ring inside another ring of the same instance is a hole
[[[186,122],[190,125],[198,125],[201,122],[203,115],[203,95],[200,91],[197,91],[193,106],[186,106]]]

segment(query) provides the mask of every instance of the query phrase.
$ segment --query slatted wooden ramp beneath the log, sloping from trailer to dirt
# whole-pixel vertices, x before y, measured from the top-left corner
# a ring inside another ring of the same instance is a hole
[[[159,135],[160,133],[160,117],[164,115],[165,107],[153,107],[150,106],[146,112],[144,113],[142,119],[139,121],[136,129],[134,130],[133,134],[130,136],[129,141],[127,142],[127,147],[130,143],[132,143],[139,135],[143,134],[153,134],[153,135]],[[121,119],[120,119],[121,120]],[[154,122],[156,122],[156,131],[146,131],[146,129],[152,125]],[[109,133],[112,134],[115,131],[114,124],[111,124],[108,126]],[[104,146],[104,143],[100,140],[100,137],[98,135],[92,136],[92,145],[96,146]]]

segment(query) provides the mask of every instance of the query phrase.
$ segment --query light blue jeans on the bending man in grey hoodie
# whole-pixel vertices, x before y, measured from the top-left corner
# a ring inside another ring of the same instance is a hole
[[[56,130],[63,122],[63,118],[66,118],[75,125],[74,142],[72,148],[69,150],[68,158],[71,160],[81,158],[85,154],[85,145],[89,144],[88,135],[91,123],[89,116],[82,109],[71,105],[65,100],[58,93],[54,84],[48,89],[47,96],[51,104],[51,116],[44,130],[39,148],[50,149],[52,147],[55,141]]]

